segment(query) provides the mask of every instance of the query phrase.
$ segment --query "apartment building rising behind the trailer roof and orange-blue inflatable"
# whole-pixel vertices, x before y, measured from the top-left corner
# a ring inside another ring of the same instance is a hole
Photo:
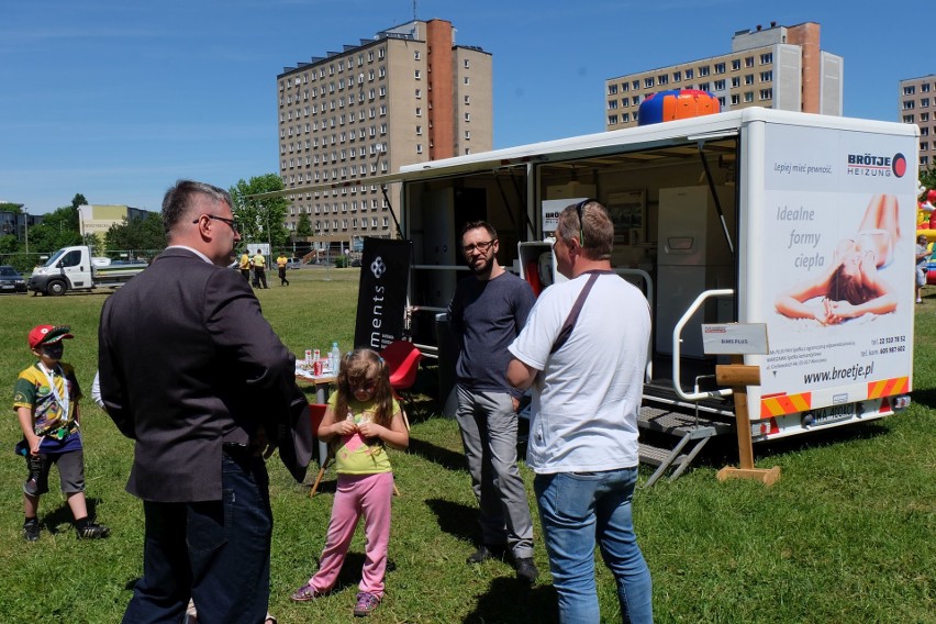
[[[820,48],[820,24],[757,26],[732,36],[732,52],[605,81],[605,130],[637,125],[648,96],[676,89],[713,93],[722,110],[765,107],[842,114],[844,59]]]

